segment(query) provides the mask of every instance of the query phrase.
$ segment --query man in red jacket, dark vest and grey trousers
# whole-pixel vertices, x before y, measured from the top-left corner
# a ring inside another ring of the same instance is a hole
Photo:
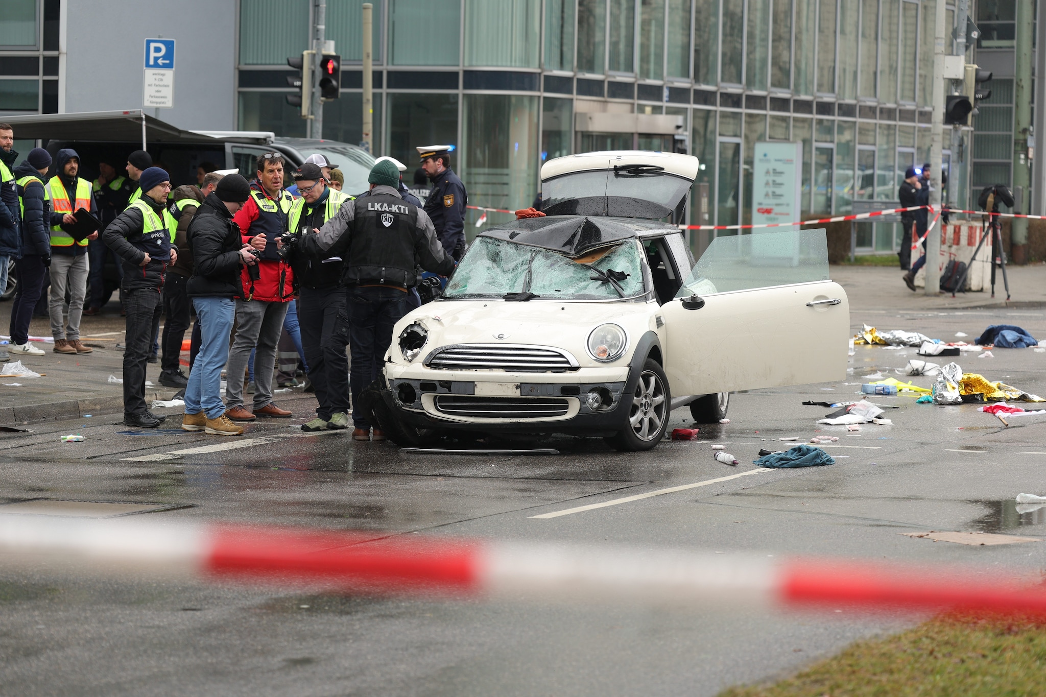
[[[232,216],[244,241],[254,248],[258,263],[256,277],[248,268],[242,272],[245,300],[236,300],[236,334],[226,365],[225,415],[233,421],[253,421],[259,416],[290,417],[291,412],[272,401],[272,371],[276,344],[283,329],[287,303],[292,300],[291,266],[276,252],[276,238],[287,232],[293,198],[283,190],[283,157],[266,153],[257,159],[257,179],[251,196]],[[244,406],[244,373],[254,355],[253,413]]]

